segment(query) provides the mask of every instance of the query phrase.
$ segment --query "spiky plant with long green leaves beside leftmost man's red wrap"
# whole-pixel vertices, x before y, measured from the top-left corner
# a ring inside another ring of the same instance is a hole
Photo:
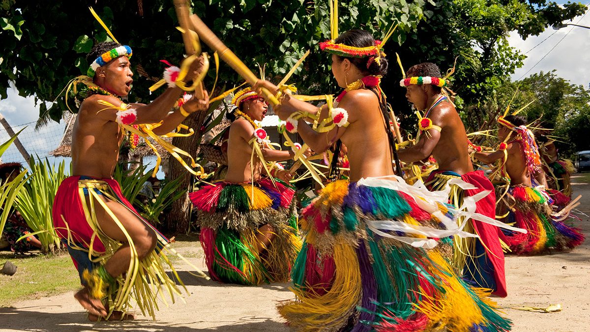
[[[65,177],[65,161],[55,167],[50,165],[47,158],[37,161],[31,158],[31,174],[17,194],[15,208],[33,230],[32,234],[39,238],[41,251],[44,253],[55,252],[60,248],[60,239],[53,227],[51,210],[57,188]]]

